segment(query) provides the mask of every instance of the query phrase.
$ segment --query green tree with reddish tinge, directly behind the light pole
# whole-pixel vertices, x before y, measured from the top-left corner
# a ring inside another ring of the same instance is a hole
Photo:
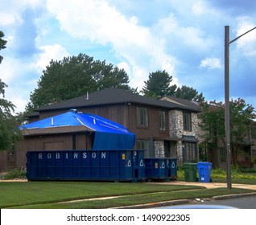
[[[238,98],[232,100],[230,106],[230,147],[232,162],[237,166],[239,153],[244,153],[244,146],[248,145],[246,136],[256,118],[254,107],[246,104],[246,101]],[[216,100],[201,104],[202,113],[200,128],[205,132],[204,139],[207,143],[214,143],[215,146],[225,148],[225,104]]]

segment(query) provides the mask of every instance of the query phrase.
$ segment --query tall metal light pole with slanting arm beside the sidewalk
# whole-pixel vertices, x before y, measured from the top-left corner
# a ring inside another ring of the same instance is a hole
[[[250,29],[253,31],[256,27]],[[227,188],[232,188],[231,182],[231,149],[230,149],[230,114],[229,114],[229,44],[233,43],[237,39],[240,39],[243,35],[246,35],[250,31],[238,36],[235,39],[229,41],[229,26],[225,26],[225,149],[227,153]]]

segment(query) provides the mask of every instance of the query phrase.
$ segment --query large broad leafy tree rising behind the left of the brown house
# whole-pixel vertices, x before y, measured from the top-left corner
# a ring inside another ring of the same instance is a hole
[[[72,99],[103,88],[129,89],[129,78],[123,69],[93,57],[79,54],[52,60],[31,93],[26,110],[43,107],[52,101]]]

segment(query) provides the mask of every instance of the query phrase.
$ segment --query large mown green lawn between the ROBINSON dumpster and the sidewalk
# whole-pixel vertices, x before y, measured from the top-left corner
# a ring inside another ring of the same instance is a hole
[[[147,182],[0,182],[0,208],[196,188],[200,187],[155,185]]]

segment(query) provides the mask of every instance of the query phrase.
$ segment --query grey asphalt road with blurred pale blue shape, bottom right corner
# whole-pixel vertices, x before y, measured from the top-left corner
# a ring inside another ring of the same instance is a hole
[[[256,196],[250,197],[238,197],[221,200],[201,200],[195,199],[191,203],[175,205],[171,207],[160,207],[160,208],[239,208],[239,209],[256,209]]]

